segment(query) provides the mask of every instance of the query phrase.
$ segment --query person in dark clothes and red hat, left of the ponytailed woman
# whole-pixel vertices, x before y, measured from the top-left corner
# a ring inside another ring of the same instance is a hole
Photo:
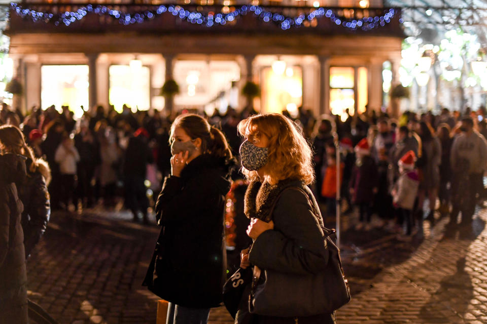
[[[142,213],[144,223],[148,223],[147,209],[149,199],[146,195],[147,164],[152,163],[152,152],[149,149],[149,133],[140,128],[128,140],[123,161],[125,176],[125,206],[132,212],[133,221],[138,221],[138,212]]]

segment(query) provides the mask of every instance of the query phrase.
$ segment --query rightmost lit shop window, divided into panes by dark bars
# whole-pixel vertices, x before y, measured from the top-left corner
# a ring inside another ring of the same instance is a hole
[[[366,67],[330,68],[330,110],[334,115],[340,115],[342,120],[346,120],[346,109],[349,109],[351,115],[354,115],[356,110],[359,113],[365,111],[368,102],[367,78]]]

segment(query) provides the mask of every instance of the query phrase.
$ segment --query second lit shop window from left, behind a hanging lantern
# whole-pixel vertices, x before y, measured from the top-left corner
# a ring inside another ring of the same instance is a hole
[[[132,111],[148,110],[150,101],[150,72],[139,60],[132,60],[130,65],[110,66],[110,104],[115,110],[122,111],[124,104]]]

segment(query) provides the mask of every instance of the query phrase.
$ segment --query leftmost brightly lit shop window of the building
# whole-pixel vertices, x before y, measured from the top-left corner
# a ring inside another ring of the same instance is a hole
[[[41,107],[69,106],[75,117],[88,109],[88,65],[43,65],[41,68]]]

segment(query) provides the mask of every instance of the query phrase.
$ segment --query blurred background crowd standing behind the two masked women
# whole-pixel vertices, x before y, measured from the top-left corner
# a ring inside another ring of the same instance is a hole
[[[356,116],[347,111],[344,121],[341,116],[317,118],[310,110],[299,112],[293,119],[312,143],[316,179],[311,186],[326,215],[336,212],[337,170],[342,211],[357,207],[360,230],[370,229],[371,216],[376,214],[379,225],[401,233],[403,223],[410,224],[403,234],[414,234],[421,229],[418,220],[434,219],[437,200],[441,215],[456,218],[461,210],[463,222],[471,219],[475,204],[482,203],[487,169],[483,106],[477,111],[467,107],[463,114],[446,108],[439,115],[406,111],[398,119],[376,111]],[[252,108],[237,112],[229,107],[223,115],[217,110],[205,117],[222,130],[236,154],[243,141],[237,125],[252,114],[256,114]],[[292,118],[287,111],[283,115]],[[90,208],[100,201],[113,208],[116,198],[123,197],[134,220],[147,222],[147,189],[157,192],[170,174],[169,129],[176,116],[160,111],[133,113],[127,106],[118,113],[113,107],[106,111],[98,106],[75,120],[67,106],[60,112],[54,106],[33,108],[24,116],[4,105],[0,124],[20,127],[34,155],[49,164],[53,209]],[[410,160],[401,162],[409,151],[412,167]],[[236,171],[232,177],[242,174]],[[403,196],[401,186],[406,184],[410,197]],[[404,199],[413,200],[413,206],[403,204]],[[423,215],[426,200],[429,205]]]

